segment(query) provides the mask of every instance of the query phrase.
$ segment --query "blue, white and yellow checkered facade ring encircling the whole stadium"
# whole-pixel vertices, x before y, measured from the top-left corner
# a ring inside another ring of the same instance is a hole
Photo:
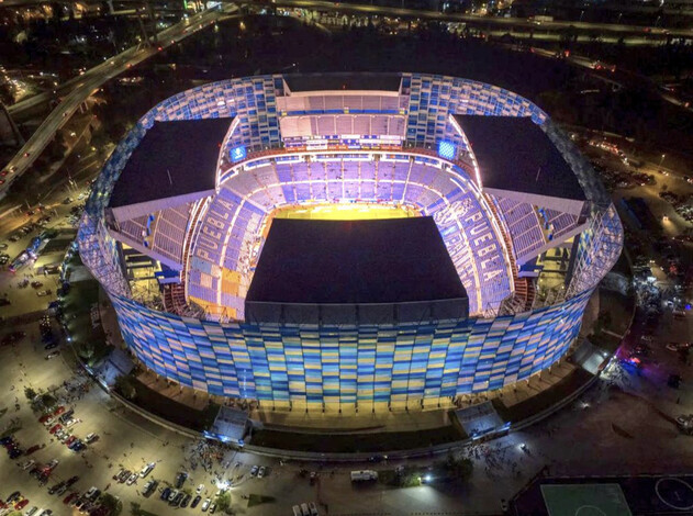
[[[539,124],[548,120],[526,99],[498,87],[441,76],[402,77],[412,92],[418,92],[417,110],[426,110],[425,120],[418,112],[409,113],[410,145],[449,137],[446,120],[451,112],[530,115]],[[118,245],[104,226],[103,210],[120,171],[147,128],[155,120],[238,116],[241,131],[233,145],[249,149],[277,146],[278,116],[272,104],[281,85],[281,76],[234,79],[167,99],[121,142],[94,183],[79,229],[80,255],[113,301],[125,343],[147,368],[181,385],[222,396],[291,402],[293,406],[358,403],[376,408],[417,400],[435,403],[500,389],[549,367],[568,350],[601,279],[597,274],[581,282],[578,293],[560,304],[511,316],[423,325],[222,324],[158,312],[133,301]],[[447,100],[434,104],[432,96],[437,97],[437,92],[447,94]],[[268,116],[258,115],[262,109]],[[563,152],[580,160],[570,143],[566,145]],[[589,170],[585,173],[589,179]],[[599,184],[586,184],[582,179],[581,183],[594,201],[603,194]],[[605,215],[605,211],[600,214]],[[591,256],[600,245],[595,240],[611,235],[614,245],[608,255],[599,255],[604,273],[617,259],[623,238],[617,216],[605,218],[612,221],[611,228],[589,229],[585,233],[594,233],[594,238],[581,248],[583,255]]]

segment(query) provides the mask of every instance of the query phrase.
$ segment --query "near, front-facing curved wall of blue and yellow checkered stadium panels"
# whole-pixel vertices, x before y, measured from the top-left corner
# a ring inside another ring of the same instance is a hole
[[[113,301],[127,346],[167,379],[322,405],[435,402],[526,379],[567,351],[590,294],[514,316],[378,326],[220,324]]]

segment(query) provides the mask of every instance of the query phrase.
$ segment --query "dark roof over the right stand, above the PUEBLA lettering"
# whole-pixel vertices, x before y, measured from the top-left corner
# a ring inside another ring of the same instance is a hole
[[[528,116],[455,115],[477,157],[484,189],[584,201],[570,165]]]

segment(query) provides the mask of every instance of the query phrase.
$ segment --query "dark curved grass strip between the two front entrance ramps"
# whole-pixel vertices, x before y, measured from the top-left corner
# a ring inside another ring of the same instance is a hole
[[[267,448],[316,452],[382,452],[426,448],[467,436],[452,425],[418,431],[382,431],[378,434],[299,434],[271,429],[257,430],[250,442]]]

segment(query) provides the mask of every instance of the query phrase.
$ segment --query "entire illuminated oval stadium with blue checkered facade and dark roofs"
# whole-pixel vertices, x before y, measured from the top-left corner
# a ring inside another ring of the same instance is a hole
[[[176,94],[113,152],[78,234],[158,375],[373,412],[550,367],[622,243],[589,162],[538,106],[409,72]]]

